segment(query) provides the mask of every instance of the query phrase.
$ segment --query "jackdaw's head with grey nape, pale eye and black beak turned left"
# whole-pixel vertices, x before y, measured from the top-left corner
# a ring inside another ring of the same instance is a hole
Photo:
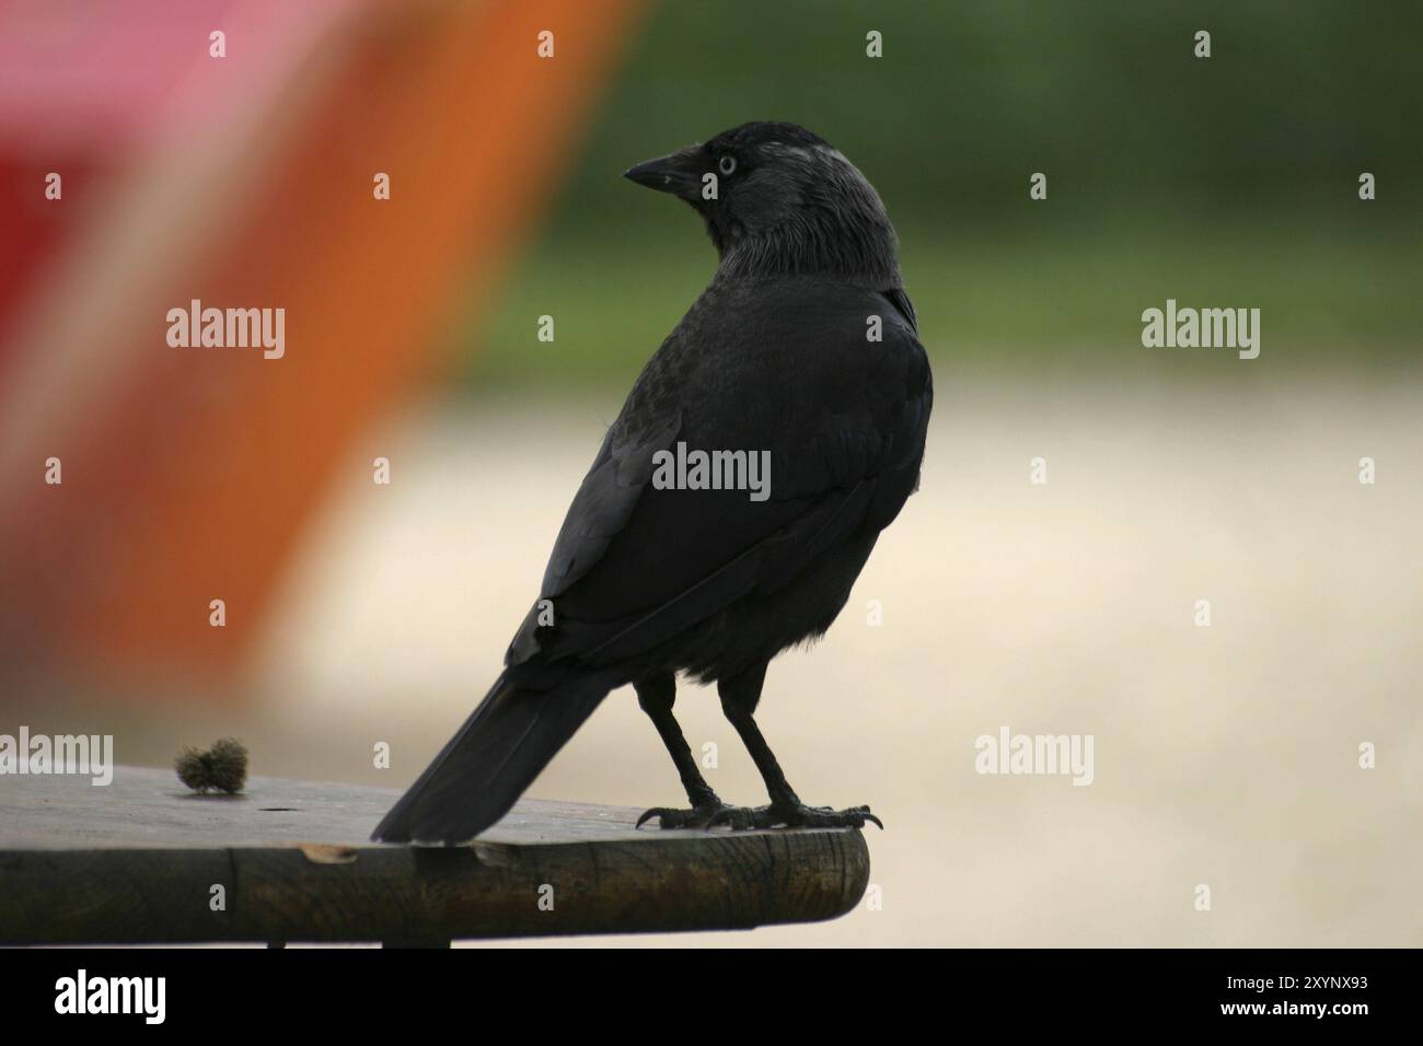
[[[743,124],[625,176],[696,208],[723,272],[899,286],[879,194],[840,151],[795,124]]]

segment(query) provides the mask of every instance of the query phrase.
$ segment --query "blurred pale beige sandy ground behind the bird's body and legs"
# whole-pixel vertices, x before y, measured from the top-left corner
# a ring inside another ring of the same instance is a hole
[[[882,905],[650,942],[1423,945],[1420,404],[1416,380],[941,374],[921,494],[760,716],[803,797],[884,817]],[[451,404],[360,448],[272,622],[266,696],[223,720],[256,771],[424,767],[497,675],[616,407]],[[714,693],[684,687],[679,716],[719,746],[721,796],[764,801]],[[1090,734],[1093,783],[976,773],[1002,727]],[[682,800],[630,690],[531,794]]]

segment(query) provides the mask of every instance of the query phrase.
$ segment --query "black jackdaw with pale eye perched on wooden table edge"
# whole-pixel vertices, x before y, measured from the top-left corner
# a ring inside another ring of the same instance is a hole
[[[753,713],[770,660],[830,628],[919,482],[932,387],[894,226],[864,175],[794,124],[744,124],[626,176],[702,215],[716,275],[608,430],[504,673],[376,840],[472,838],[628,683],[692,804],[639,825],[879,824],[803,804]],[[768,453],[768,497],[659,482],[655,457],[679,444]],[[672,716],[679,672],[716,680],[770,805],[726,805],[703,780]]]

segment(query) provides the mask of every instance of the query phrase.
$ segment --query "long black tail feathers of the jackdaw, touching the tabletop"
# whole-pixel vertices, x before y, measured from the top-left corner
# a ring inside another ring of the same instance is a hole
[[[444,844],[474,838],[509,811],[610,689],[612,682],[596,675],[529,689],[505,672],[371,838]]]

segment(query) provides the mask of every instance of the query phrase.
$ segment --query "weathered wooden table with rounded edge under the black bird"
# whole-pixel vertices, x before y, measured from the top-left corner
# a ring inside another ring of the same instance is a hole
[[[465,847],[367,841],[396,788],[172,770],[0,777],[0,944],[383,942],[746,929],[844,915],[857,830],[633,830],[636,810],[521,801]]]

